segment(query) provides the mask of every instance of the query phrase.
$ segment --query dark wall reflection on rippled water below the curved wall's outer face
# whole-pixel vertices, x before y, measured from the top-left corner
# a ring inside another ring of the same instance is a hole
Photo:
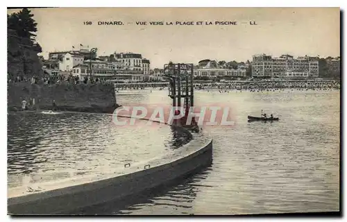
[[[150,214],[146,211],[151,207],[156,214],[174,214],[167,212],[167,207],[179,211],[182,214],[192,213],[192,202],[204,185],[196,184],[205,180],[211,171],[211,167],[205,167],[194,176],[177,180],[174,184],[157,187],[131,198],[108,201],[100,205],[85,207],[83,210],[71,212],[71,214],[84,215],[110,215],[110,214]],[[172,187],[174,186],[174,187]],[[183,210],[183,212],[182,212]]]

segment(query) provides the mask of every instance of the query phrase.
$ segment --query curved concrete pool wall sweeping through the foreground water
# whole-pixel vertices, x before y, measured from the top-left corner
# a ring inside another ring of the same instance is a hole
[[[193,134],[188,144],[152,160],[88,176],[10,188],[8,214],[69,214],[83,207],[130,198],[187,176],[211,162],[212,139],[203,133]]]

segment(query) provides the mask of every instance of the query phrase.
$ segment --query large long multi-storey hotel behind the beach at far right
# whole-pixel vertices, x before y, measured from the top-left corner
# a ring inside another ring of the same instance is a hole
[[[318,77],[319,58],[282,55],[279,58],[262,54],[253,56],[254,78],[309,78]]]

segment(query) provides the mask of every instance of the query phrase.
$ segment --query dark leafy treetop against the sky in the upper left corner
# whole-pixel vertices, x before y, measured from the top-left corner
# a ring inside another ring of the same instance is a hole
[[[7,26],[9,29],[15,30],[19,37],[28,37],[35,41],[35,33],[37,32],[37,23],[33,19],[31,10],[23,8],[19,12],[13,12],[7,15]]]

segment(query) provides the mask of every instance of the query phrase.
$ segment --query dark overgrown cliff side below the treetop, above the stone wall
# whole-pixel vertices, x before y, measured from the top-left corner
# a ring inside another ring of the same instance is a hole
[[[42,64],[37,56],[41,51],[39,45],[33,44],[29,38],[19,37],[12,29],[8,29],[7,44],[8,78],[43,75]]]

